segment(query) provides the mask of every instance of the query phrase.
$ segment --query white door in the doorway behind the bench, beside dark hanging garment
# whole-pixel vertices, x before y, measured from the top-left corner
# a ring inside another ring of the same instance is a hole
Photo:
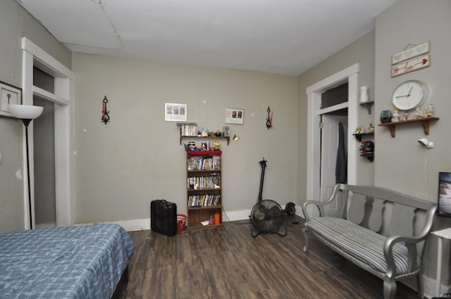
[[[345,132],[343,138],[345,139],[345,144],[347,144],[347,117],[326,114],[321,116],[323,128],[321,129],[320,199],[321,201],[327,201],[336,183],[335,168],[339,141],[338,124],[342,122]],[[345,150],[347,150],[347,148],[345,148]],[[326,215],[332,217],[341,216],[342,195],[339,195],[338,201],[326,206]]]

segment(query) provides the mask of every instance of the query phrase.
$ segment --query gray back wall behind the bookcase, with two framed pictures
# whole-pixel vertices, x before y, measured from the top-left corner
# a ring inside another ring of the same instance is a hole
[[[73,54],[73,71],[75,222],[149,218],[150,201],[157,198],[186,212],[185,149],[176,123],[164,120],[164,103],[186,103],[187,120],[209,131],[225,125],[226,107],[245,110],[244,125],[229,125],[231,136],[240,140],[223,142],[221,148],[226,212],[250,210],[257,203],[262,158],[268,160],[264,198],[295,201],[295,76],[80,53]],[[108,125],[100,121],[104,96]],[[271,129],[266,129],[268,106]]]

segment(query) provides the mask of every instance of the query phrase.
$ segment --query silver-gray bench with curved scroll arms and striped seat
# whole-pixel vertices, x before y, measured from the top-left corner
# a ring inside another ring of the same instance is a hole
[[[326,205],[335,204],[340,197],[341,215],[347,208],[347,219],[327,217]],[[436,209],[435,203],[397,191],[337,184],[328,201],[307,201],[302,206],[304,252],[309,250],[311,233],[355,265],[383,279],[384,299],[395,298],[396,281],[407,276],[416,276],[422,298],[419,272]]]

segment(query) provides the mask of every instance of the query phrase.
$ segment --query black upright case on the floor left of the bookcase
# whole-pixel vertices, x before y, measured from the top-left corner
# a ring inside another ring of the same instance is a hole
[[[164,199],[150,202],[150,229],[160,234],[177,234],[177,205]]]

